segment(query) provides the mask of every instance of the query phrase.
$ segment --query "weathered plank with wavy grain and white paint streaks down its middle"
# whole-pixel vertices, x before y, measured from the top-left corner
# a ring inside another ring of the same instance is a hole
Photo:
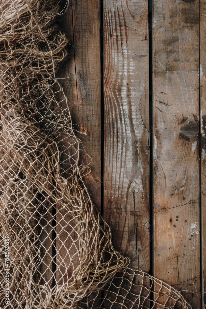
[[[148,1],[105,0],[104,218],[114,247],[149,271]]]

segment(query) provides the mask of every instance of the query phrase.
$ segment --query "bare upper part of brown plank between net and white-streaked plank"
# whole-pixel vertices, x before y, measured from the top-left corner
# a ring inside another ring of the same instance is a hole
[[[81,141],[79,165],[91,169],[84,182],[93,204],[101,211],[99,14],[99,0],[69,0],[61,28],[70,45],[58,78],[68,100],[75,134]]]

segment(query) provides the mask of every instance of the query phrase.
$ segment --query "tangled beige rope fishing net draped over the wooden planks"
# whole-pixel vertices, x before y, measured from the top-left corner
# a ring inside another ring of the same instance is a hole
[[[93,208],[55,78],[67,54],[59,11],[55,0],[0,0],[0,308],[186,308],[128,268]]]

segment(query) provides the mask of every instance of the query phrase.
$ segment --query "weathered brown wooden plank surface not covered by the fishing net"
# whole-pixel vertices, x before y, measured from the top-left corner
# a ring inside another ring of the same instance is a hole
[[[86,186],[111,226],[114,247],[200,308],[206,292],[206,0],[153,0],[151,24],[148,0],[103,0],[103,72],[100,6],[100,0],[69,0],[61,23],[70,45],[59,76],[80,132],[81,160],[91,168]]]

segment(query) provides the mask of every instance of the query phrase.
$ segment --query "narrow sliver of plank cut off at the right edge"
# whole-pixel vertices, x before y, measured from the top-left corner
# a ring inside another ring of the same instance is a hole
[[[204,285],[202,287],[203,302],[206,303],[206,2],[200,0],[200,106],[201,106],[201,197],[202,197],[202,278]]]

